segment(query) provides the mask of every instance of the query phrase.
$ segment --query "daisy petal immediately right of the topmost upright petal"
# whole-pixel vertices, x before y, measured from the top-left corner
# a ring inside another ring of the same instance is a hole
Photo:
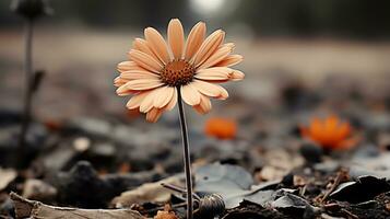
[[[205,24],[203,22],[197,23],[190,34],[188,35],[186,44],[185,58],[190,60],[202,45],[205,35]]]

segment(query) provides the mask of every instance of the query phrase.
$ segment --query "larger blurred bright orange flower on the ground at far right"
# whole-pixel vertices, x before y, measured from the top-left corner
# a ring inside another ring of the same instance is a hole
[[[328,149],[347,149],[357,142],[357,138],[352,137],[350,123],[336,116],[312,118],[308,127],[300,127],[300,131],[303,137]]]

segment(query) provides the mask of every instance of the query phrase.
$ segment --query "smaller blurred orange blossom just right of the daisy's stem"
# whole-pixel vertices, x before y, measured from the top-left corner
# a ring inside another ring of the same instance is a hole
[[[204,132],[220,139],[233,139],[237,134],[237,124],[227,118],[210,118],[205,123]]]

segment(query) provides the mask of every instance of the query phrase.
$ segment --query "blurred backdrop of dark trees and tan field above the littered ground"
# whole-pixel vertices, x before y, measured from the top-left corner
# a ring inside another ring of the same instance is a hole
[[[232,88],[227,85],[233,96],[227,101],[231,105],[245,97],[258,103],[250,106],[253,110],[261,105],[272,108],[283,97],[289,97],[292,91],[295,95],[295,90],[288,90],[291,84],[311,91],[322,89],[329,99],[338,99],[342,91],[364,90],[361,95],[374,101],[390,93],[390,1],[49,3],[55,13],[36,22],[34,38],[34,69],[46,71],[34,101],[34,116],[43,120],[125,114],[127,100],[118,97],[113,85],[116,65],[126,60],[132,39],[142,37],[144,27],[154,26],[166,33],[172,18],[179,18],[187,33],[198,21],[206,22],[209,34],[223,28],[227,41],[236,44],[236,53],[244,55],[245,61],[237,68],[247,78]],[[17,111],[25,89],[24,22],[9,9],[10,1],[2,0],[0,107]],[[330,84],[338,89],[329,89]],[[286,89],[287,93],[283,93]],[[218,104],[214,101],[217,108]],[[172,116],[176,117],[175,113]]]

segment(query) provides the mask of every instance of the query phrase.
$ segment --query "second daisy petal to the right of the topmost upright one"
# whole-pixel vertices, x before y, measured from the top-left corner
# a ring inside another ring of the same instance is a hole
[[[212,33],[200,46],[198,53],[194,55],[193,65],[198,68],[202,65],[215,50],[220,47],[225,38],[225,32],[217,30]]]

